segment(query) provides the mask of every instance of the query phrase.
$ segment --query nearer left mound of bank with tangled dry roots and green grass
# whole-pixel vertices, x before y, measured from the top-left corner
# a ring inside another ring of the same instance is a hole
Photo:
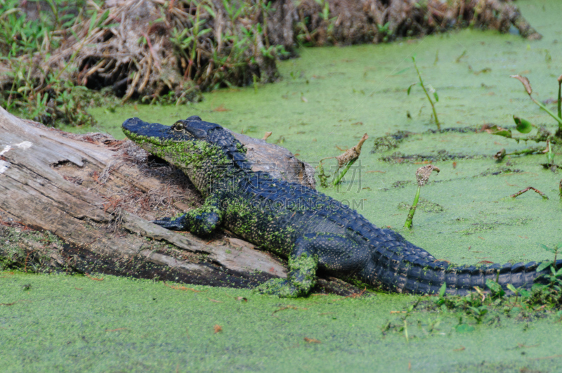
[[[44,8],[28,16],[24,6],[35,5]],[[86,109],[107,105],[108,96],[180,105],[202,90],[273,81],[285,51],[268,40],[272,11],[252,0],[1,0],[0,105],[44,124],[80,126],[95,124]]]

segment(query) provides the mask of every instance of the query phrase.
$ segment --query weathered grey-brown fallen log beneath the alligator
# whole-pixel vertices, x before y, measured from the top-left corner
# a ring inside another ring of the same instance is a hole
[[[253,157],[261,157],[268,167],[276,166],[267,157],[295,160],[284,148],[271,150],[265,141],[248,143]],[[288,154],[280,155],[282,150]],[[145,162],[133,162],[143,157],[143,150],[128,140],[65,133],[0,107],[0,260],[26,270],[230,287],[287,276],[283,261],[235,237],[215,235],[204,242],[150,223],[156,215],[194,207],[199,197],[172,167],[147,169]],[[305,166],[289,167],[296,176],[287,169],[279,174],[306,181]],[[178,200],[162,202],[166,192]],[[320,280],[320,288],[339,294],[356,291],[328,280]]]

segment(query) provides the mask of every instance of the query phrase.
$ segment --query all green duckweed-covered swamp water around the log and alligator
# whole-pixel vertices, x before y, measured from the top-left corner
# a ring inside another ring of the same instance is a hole
[[[511,115],[518,114],[554,130],[554,120],[509,75],[527,76],[537,100],[556,97],[556,77],[562,74],[562,3],[517,4],[543,34],[541,41],[463,30],[388,45],[309,48],[301,50],[301,58],[280,63],[282,81],[259,86],[257,93],[253,87],[225,89],[183,107],[126,105],[113,113],[103,108],[92,112],[103,125],[100,129],[117,138],[123,137],[119,127],[129,117],[173,124],[194,114],[259,138],[273,131],[270,142],[278,141],[311,163],[339,155],[336,146],[351,148],[368,133],[360,174],[355,171],[340,190],[319,188],[322,192],[348,201],[373,223],[391,226],[438,259],[459,264],[551,259],[539,244],[560,241],[561,176],[542,169],[546,157],[508,157],[498,164],[490,157],[495,152],[525,144],[487,133],[428,133],[434,124],[423,92],[414,87],[410,96],[406,93],[417,81],[411,62],[416,55],[424,81],[438,91],[443,128],[513,126]],[[419,134],[395,150],[371,153],[374,138],[398,130]],[[407,216],[404,205],[412,203],[414,172],[423,164],[389,163],[381,157],[396,151],[435,156],[441,150],[481,157],[456,159],[456,167],[452,160],[433,162],[441,172],[421,191],[429,203],[417,211],[414,229],[407,232],[401,228]],[[561,156],[557,149],[555,162]],[[509,199],[529,185],[549,200],[530,192]],[[24,284],[32,284],[31,289],[23,290]],[[196,288],[206,292],[115,277],[99,282],[0,273],[0,303],[16,301],[0,306],[0,371],[406,372],[409,362],[412,372],[558,372],[562,367],[561,323],[553,316],[502,315],[489,326],[457,313],[416,311],[407,319],[406,341],[402,314],[390,312],[404,310],[414,296],[289,301],[247,290]],[[272,315],[288,305],[298,309]],[[460,316],[475,328],[472,332],[455,331]],[[438,318],[440,325],[431,329]],[[398,326],[384,332],[388,322]],[[223,331],[215,334],[214,325]]]

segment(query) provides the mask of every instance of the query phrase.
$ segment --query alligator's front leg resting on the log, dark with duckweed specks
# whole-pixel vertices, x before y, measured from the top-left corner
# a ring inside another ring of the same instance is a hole
[[[223,212],[220,197],[211,195],[199,209],[193,209],[178,218],[162,218],[152,221],[169,230],[186,230],[194,235],[210,235],[221,224]]]

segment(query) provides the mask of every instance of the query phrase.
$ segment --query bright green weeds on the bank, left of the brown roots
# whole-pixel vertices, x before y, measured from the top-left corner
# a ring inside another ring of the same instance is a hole
[[[93,16],[85,4],[86,1],[62,0],[25,4],[0,1],[2,107],[44,124],[96,124],[86,111],[96,100],[85,87],[66,79],[74,67],[64,61],[58,68],[46,66],[53,51],[63,46],[72,33],[72,27]],[[28,17],[30,10],[23,6],[36,5],[37,17]]]

